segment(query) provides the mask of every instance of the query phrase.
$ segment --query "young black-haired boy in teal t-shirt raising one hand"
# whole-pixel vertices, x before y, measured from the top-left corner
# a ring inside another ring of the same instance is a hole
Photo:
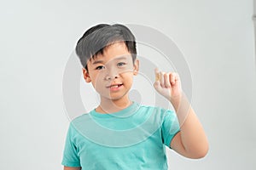
[[[129,99],[139,60],[135,37],[126,26],[91,27],[79,39],[76,53],[85,82],[92,84],[101,101],[95,110],[70,123],[64,170],[163,170],[168,168],[165,145],[189,158],[206,156],[207,137],[177,73],[155,70],[154,82],[176,113]]]

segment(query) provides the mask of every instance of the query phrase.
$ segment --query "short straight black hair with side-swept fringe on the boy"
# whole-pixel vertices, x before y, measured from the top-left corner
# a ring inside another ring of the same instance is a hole
[[[121,24],[99,24],[90,27],[77,42],[76,54],[88,71],[87,61],[94,59],[97,54],[103,54],[104,49],[114,42],[124,42],[134,62],[137,58],[135,37],[127,26]]]

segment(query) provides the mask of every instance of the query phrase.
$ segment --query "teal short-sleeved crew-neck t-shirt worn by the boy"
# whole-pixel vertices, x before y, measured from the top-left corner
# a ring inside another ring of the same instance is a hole
[[[166,146],[179,132],[174,111],[133,102],[122,111],[95,110],[68,128],[62,165],[82,169],[168,169]]]

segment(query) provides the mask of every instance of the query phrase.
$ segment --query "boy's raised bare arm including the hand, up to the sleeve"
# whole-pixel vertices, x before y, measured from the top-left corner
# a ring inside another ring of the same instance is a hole
[[[172,139],[170,147],[182,156],[201,158],[207,155],[208,142],[201,122],[198,120],[185,94],[176,73],[165,73],[155,70],[154,88],[168,99],[180,124],[180,132]]]

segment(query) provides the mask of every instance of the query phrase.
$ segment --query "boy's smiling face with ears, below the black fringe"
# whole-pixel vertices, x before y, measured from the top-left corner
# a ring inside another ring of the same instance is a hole
[[[88,71],[83,69],[84,79],[92,83],[101,98],[122,99],[128,96],[138,66],[138,60],[133,63],[125,43],[115,42],[104,49],[103,55],[88,60]]]

